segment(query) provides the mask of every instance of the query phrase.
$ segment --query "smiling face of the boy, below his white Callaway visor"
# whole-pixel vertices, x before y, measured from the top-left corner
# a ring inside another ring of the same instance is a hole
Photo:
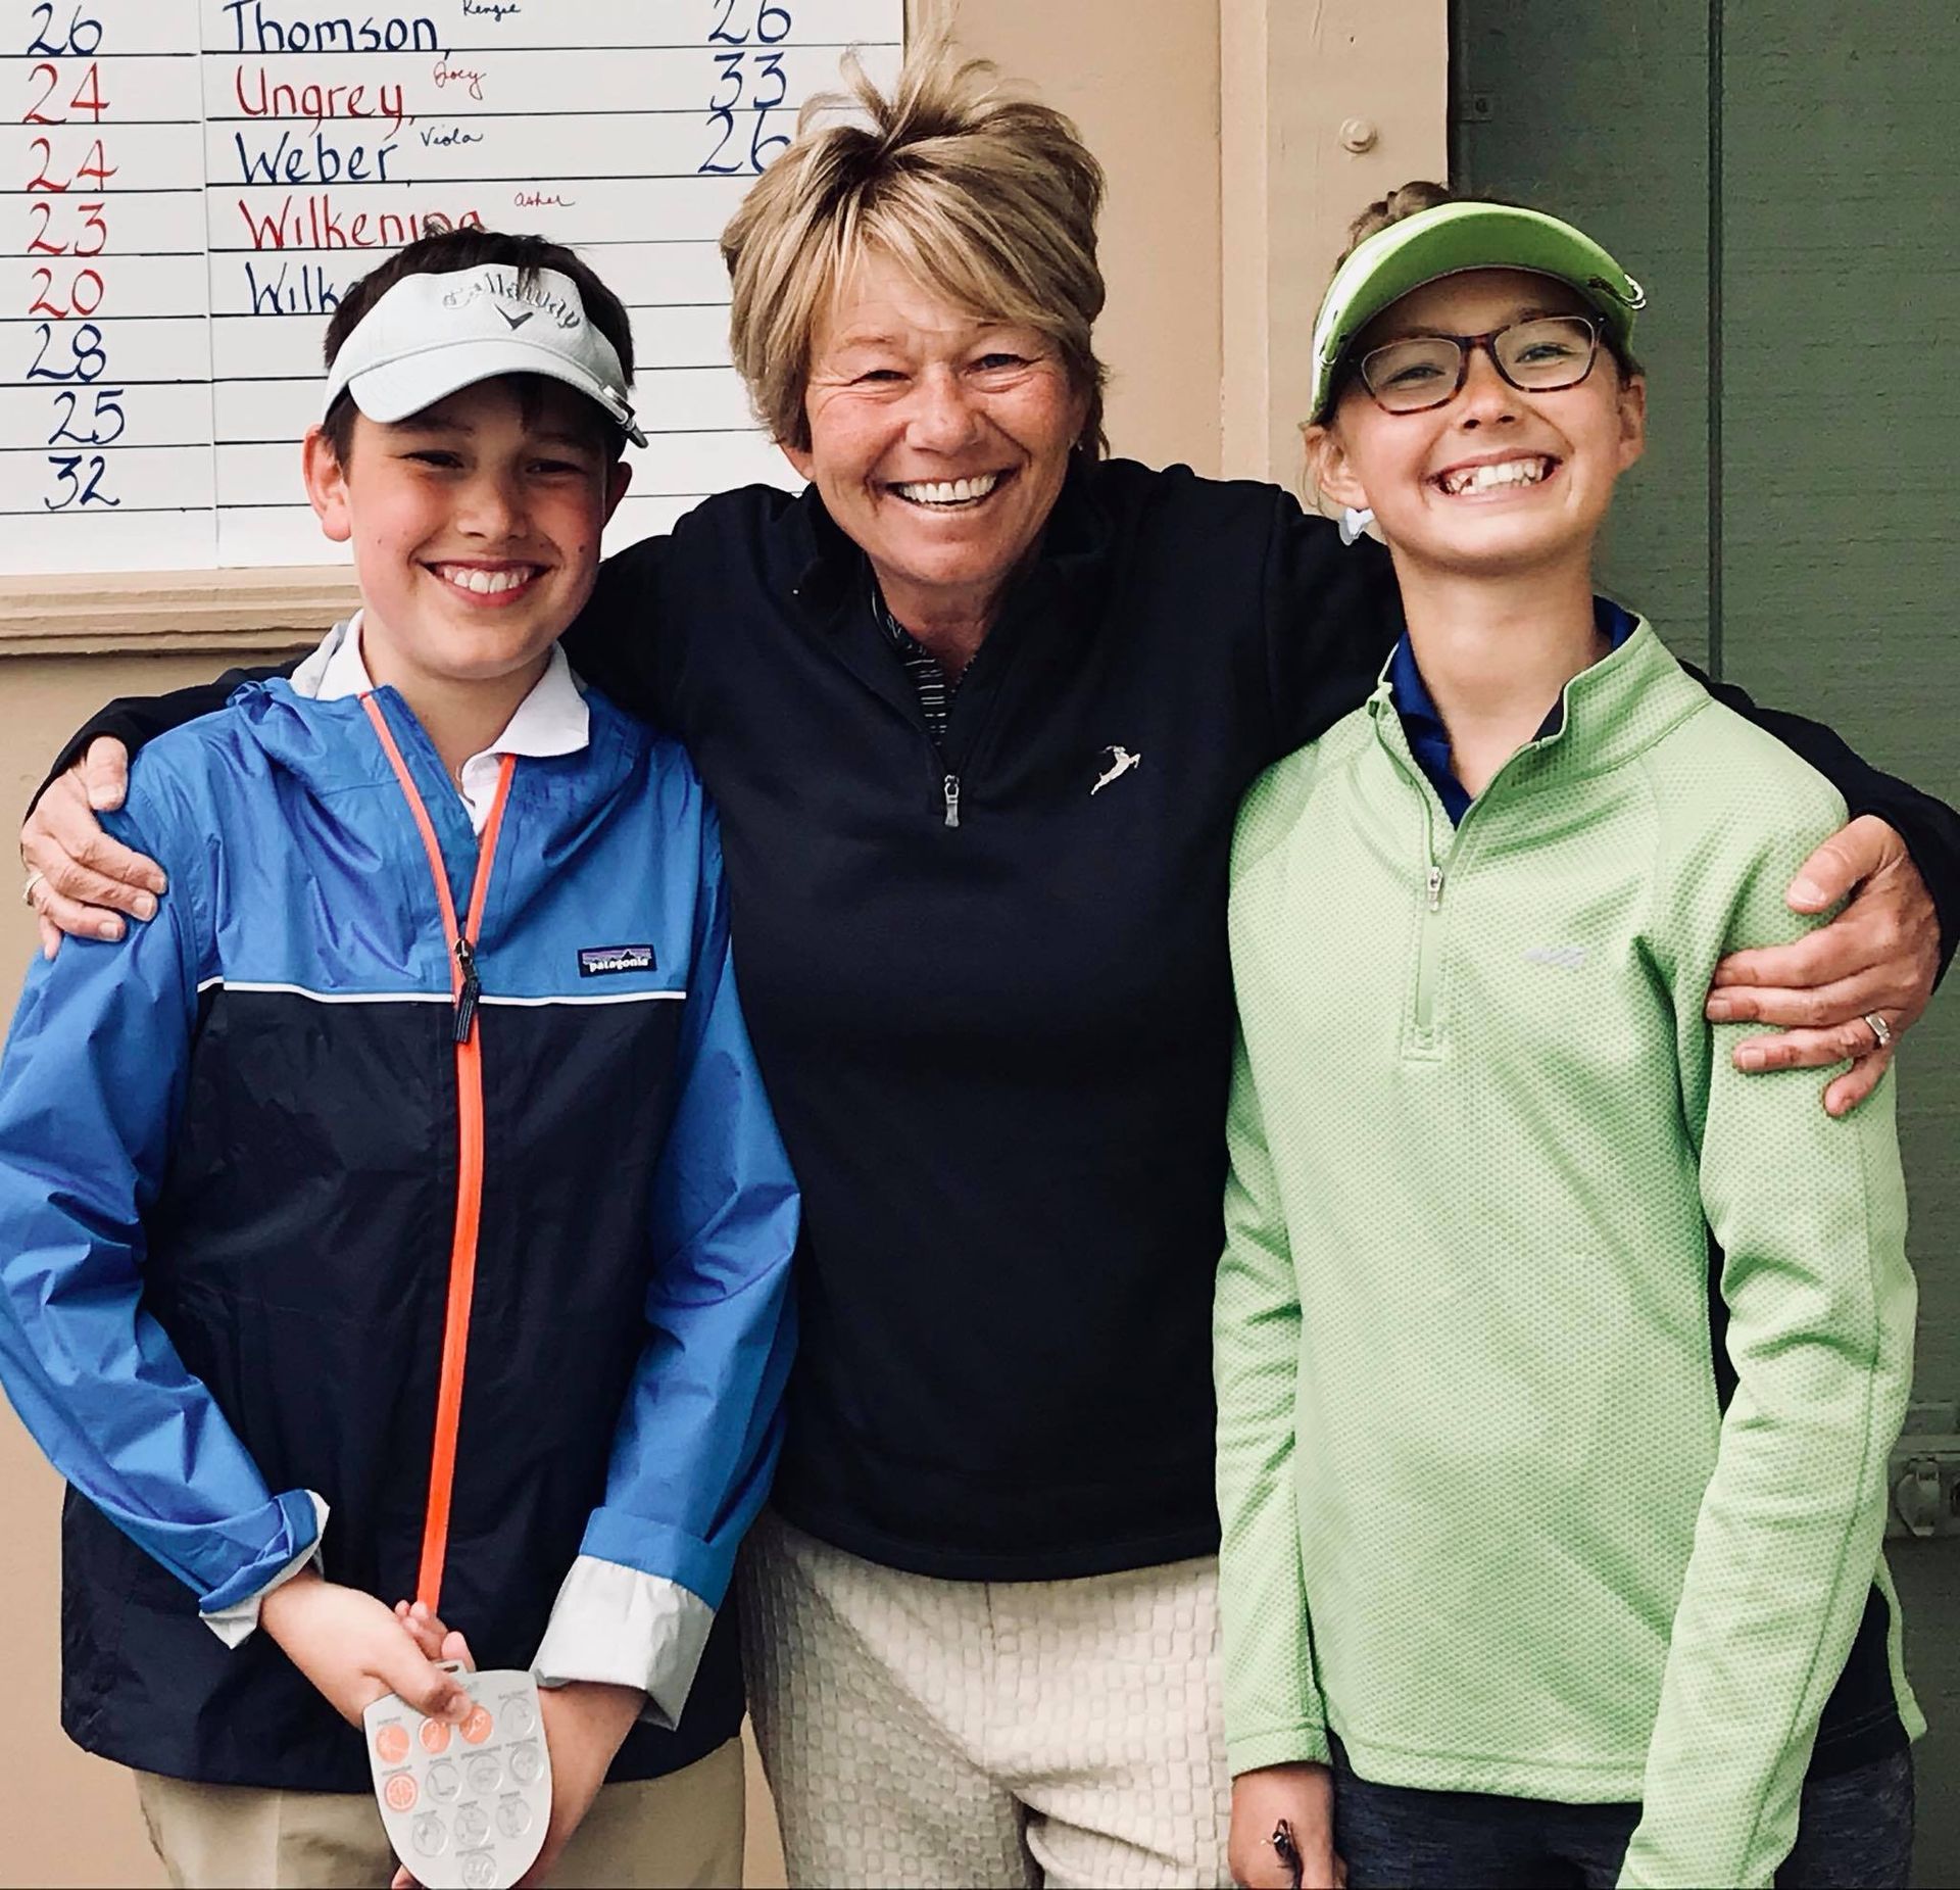
[[[486,380],[392,425],[359,414],[345,467],[316,427],[308,494],[353,545],[365,635],[443,680],[535,663],[592,596],[629,476],[594,412],[557,382],[525,400]]]

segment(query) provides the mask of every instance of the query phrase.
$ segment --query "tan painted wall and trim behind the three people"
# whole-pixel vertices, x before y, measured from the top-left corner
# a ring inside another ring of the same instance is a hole
[[[1445,12],[1445,0],[911,0],[915,37],[949,24],[1070,112],[1107,167],[1098,341],[1119,453],[1290,478],[1303,337],[1339,227],[1384,182],[1441,173]],[[1376,122],[1372,153],[1341,145],[1352,116]],[[290,645],[294,627],[333,616],[325,580],[210,596],[139,584],[114,610],[84,590],[0,584],[0,823],[102,700],[259,661],[274,625]],[[198,625],[188,647],[186,623]],[[0,990],[18,988],[31,949],[27,912],[0,896]],[[0,1721],[0,1884],[155,1884],[125,1780],[57,1729],[59,1484],[10,1419],[0,1490],[0,1619],[16,1629],[20,1702]],[[751,1784],[749,1880],[780,1884],[753,1766]]]

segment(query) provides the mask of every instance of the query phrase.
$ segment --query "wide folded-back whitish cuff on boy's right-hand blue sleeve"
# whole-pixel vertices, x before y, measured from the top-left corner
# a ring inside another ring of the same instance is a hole
[[[580,1555],[531,1668],[539,1686],[604,1680],[647,1694],[641,1719],[672,1731],[688,1704],[715,1612],[664,1574]]]

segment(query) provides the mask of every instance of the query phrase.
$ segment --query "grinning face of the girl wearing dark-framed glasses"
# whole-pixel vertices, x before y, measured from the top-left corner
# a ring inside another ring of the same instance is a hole
[[[1484,335],[1586,312],[1548,276],[1480,269],[1411,290],[1368,325],[1354,357],[1405,335]],[[1535,392],[1513,388],[1474,349],[1456,396],[1415,414],[1386,412],[1352,376],[1331,423],[1315,429],[1315,457],[1323,490],[1372,508],[1399,557],[1529,571],[1590,555],[1615,480],[1641,457],[1644,416],[1644,382],[1623,378],[1603,343],[1582,382]]]

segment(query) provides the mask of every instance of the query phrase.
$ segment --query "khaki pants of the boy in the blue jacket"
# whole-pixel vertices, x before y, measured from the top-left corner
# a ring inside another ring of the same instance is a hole
[[[149,1841],[188,1890],[386,1890],[396,1859],[365,1792],[272,1792],[135,1774]],[[737,1890],[743,1849],[741,1741],[666,1778],[608,1784],[572,1833],[551,1884]]]

